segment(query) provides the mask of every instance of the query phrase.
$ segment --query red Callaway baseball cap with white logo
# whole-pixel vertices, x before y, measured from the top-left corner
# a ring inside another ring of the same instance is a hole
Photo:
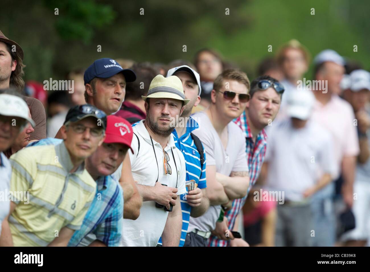
[[[124,118],[115,115],[107,116],[107,128],[105,130],[106,144],[120,143],[127,145],[132,153],[134,152],[131,148],[132,132],[131,124]]]

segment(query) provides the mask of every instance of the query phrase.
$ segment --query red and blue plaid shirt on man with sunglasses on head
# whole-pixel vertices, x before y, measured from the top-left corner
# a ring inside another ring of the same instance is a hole
[[[252,132],[250,132],[245,111],[243,111],[242,115],[236,118],[234,122],[235,124],[239,125],[239,127],[245,134],[246,153],[249,167],[249,187],[248,187],[249,192],[250,188],[252,188],[252,186],[256,183],[259,173],[261,172],[263,160],[265,159],[266,154],[267,135],[265,133],[265,130],[262,130],[257,135],[256,144],[253,142],[253,135]],[[245,204],[248,192],[245,197],[235,199],[232,202],[231,209],[225,213],[225,216],[228,218],[229,221],[229,229],[233,229],[236,216],[238,216],[240,209]],[[243,218],[240,218],[240,220],[243,220]],[[229,245],[228,241],[217,239],[213,235],[209,238],[208,246],[228,246],[228,245]]]

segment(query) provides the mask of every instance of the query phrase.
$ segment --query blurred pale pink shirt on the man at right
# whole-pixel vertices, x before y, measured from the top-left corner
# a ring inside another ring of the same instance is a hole
[[[343,157],[357,156],[360,152],[354,119],[351,105],[337,95],[333,95],[326,105],[315,102],[312,120],[327,128],[333,138],[334,160],[338,164],[334,179],[340,174]]]

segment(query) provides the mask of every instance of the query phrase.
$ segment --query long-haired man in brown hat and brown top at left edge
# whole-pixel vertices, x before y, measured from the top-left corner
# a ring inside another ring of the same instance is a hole
[[[22,48],[0,31],[0,89],[12,86],[19,92],[23,92],[24,67]],[[34,132],[30,134],[29,142],[46,138],[46,114],[43,104],[32,97],[23,96],[23,98],[26,100],[31,117],[36,123]]]

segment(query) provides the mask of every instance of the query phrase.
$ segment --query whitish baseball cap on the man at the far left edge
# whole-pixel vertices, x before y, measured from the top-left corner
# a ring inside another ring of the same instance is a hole
[[[29,109],[26,101],[11,94],[0,94],[0,115],[20,117],[31,123],[35,122],[28,115]]]

